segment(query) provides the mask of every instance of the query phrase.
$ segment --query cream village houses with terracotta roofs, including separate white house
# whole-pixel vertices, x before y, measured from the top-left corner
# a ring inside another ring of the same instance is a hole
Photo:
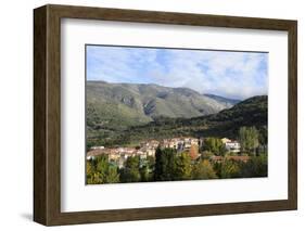
[[[240,143],[232,141],[227,138],[223,138],[221,142],[229,152],[239,153]],[[148,156],[155,156],[157,146],[163,149],[170,147],[178,152],[189,150],[192,145],[202,146],[204,145],[204,139],[198,139],[192,137],[164,139],[162,141],[149,140],[140,143],[137,147],[104,147],[104,146],[92,146],[87,152],[87,159],[96,158],[100,155],[107,155],[109,162],[115,163],[119,168],[124,167],[126,159],[129,156],[139,156],[140,159],[147,159]]]

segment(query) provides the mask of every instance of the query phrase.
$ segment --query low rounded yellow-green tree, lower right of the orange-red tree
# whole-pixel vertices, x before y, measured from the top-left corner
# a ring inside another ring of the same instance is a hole
[[[196,163],[192,169],[192,179],[216,179],[216,172],[214,171],[211,163],[206,159],[203,159]]]

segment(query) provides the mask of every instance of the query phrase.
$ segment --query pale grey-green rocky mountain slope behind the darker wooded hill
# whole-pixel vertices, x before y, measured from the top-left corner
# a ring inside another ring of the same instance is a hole
[[[87,126],[90,131],[124,130],[160,117],[191,118],[214,114],[233,103],[188,88],[87,81]]]

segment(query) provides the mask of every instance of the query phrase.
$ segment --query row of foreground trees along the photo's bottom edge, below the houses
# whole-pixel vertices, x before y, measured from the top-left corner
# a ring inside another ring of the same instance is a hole
[[[174,149],[157,149],[155,159],[141,164],[139,156],[130,156],[120,169],[109,163],[105,155],[87,161],[87,183],[266,177],[267,167],[267,155],[253,156],[247,162],[226,157],[221,162],[211,162],[205,156],[192,161],[186,152],[178,154]]]

